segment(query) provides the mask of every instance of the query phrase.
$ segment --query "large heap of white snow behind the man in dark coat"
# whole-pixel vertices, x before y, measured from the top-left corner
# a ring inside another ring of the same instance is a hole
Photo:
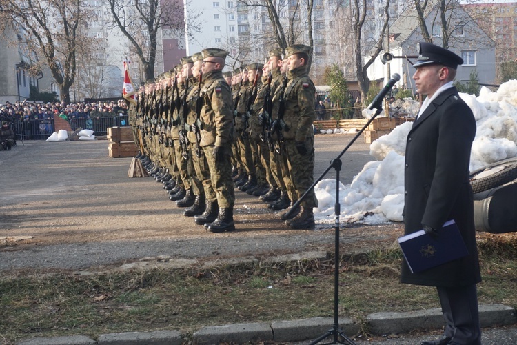
[[[517,80],[503,83],[497,92],[481,88],[479,97],[460,93],[476,118],[476,137],[472,144],[470,171],[496,161],[517,157]],[[418,113],[418,102],[406,101],[410,115]],[[372,112],[363,111],[369,118]],[[370,145],[376,161],[365,164],[352,184],[341,184],[339,196],[341,223],[383,224],[403,221],[404,153],[412,123],[397,126]],[[316,224],[334,224],[336,180],[323,179],[315,187],[318,208]]]

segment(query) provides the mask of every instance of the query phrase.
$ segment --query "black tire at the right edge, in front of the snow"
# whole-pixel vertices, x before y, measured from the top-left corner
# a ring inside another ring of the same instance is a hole
[[[490,164],[470,174],[474,194],[484,192],[517,179],[517,158],[505,159]]]

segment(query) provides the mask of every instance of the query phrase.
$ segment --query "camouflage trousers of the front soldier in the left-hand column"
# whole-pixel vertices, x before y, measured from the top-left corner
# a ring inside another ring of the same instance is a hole
[[[234,181],[230,163],[230,146],[225,146],[225,159],[215,161],[214,146],[204,146],[203,152],[210,169],[210,179],[215,190],[219,208],[233,208],[235,204]]]

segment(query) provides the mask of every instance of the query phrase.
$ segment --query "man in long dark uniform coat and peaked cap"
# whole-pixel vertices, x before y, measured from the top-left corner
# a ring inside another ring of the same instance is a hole
[[[405,234],[436,229],[454,219],[469,255],[420,273],[403,262],[401,282],[436,286],[445,335],[423,345],[481,344],[476,284],[481,281],[469,159],[476,134],[472,110],[452,85],[463,59],[431,43],[420,43],[413,76],[420,95],[427,95],[412,130],[405,155]]]

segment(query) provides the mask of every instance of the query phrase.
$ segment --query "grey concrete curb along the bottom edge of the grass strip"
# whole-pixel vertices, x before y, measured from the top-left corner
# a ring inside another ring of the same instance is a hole
[[[482,327],[503,326],[517,323],[514,308],[503,304],[479,306]],[[373,313],[366,317],[365,326],[374,335],[401,334],[414,330],[430,330],[443,327],[439,308],[407,313]],[[252,341],[299,342],[316,339],[332,329],[333,317],[314,317],[292,321],[259,322],[225,326],[207,326],[194,333],[194,344],[219,344]],[[352,337],[361,331],[359,324],[346,317],[340,317],[341,331]],[[181,345],[183,339],[178,331],[129,332],[99,335],[96,341],[84,335],[72,337],[40,337],[22,340],[23,345]]]

